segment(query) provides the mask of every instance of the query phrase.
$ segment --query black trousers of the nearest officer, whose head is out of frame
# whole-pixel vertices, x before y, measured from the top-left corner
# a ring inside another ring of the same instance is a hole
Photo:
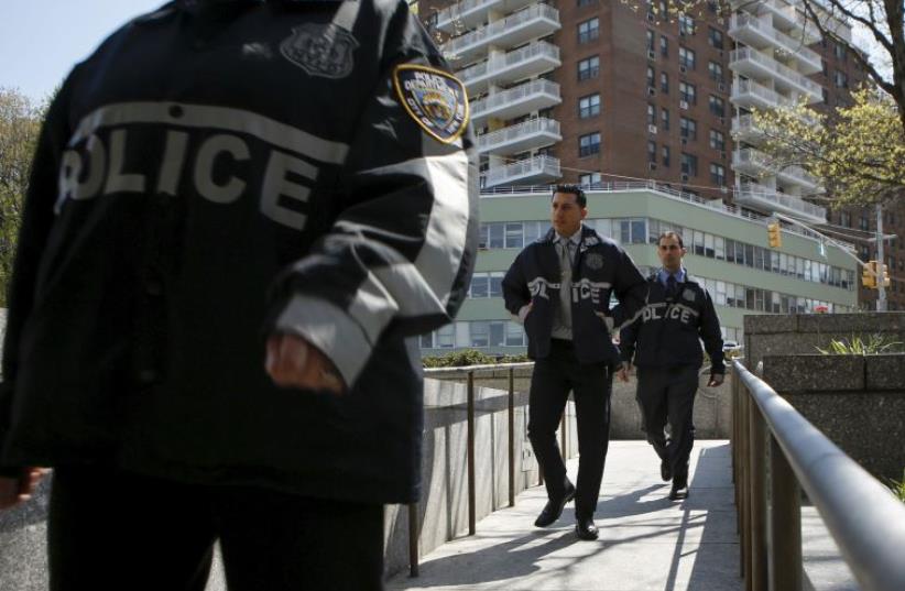
[[[383,588],[381,505],[112,469],[53,479],[51,591],[204,591],[217,539],[230,591]]]

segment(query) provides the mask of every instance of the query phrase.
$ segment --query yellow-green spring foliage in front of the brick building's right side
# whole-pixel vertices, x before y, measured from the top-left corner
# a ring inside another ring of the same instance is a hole
[[[887,201],[905,189],[905,130],[895,102],[870,89],[831,116],[804,103],[754,112],[759,145],[773,168],[800,166],[839,204]]]

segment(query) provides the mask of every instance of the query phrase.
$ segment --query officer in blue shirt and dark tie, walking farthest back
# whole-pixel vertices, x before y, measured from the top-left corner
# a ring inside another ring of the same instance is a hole
[[[637,402],[647,441],[661,459],[661,477],[672,479],[669,499],[688,495],[688,458],[695,441],[691,414],[704,361],[700,341],[710,355],[709,387],[723,381],[720,321],[704,285],[682,265],[685,245],[676,232],[657,240],[663,267],[647,280],[644,313],[622,329],[623,365],[619,379],[629,381],[637,366]],[[669,423],[669,437],[664,428]]]

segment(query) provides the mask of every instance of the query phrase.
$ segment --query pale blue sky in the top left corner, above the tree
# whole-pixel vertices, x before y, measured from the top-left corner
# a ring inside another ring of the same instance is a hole
[[[165,0],[0,0],[0,87],[35,101],[110,33]]]

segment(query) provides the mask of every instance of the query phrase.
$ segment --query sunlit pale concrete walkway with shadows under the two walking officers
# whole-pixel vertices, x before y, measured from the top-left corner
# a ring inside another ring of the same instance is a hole
[[[578,462],[568,464],[575,479]],[[666,499],[659,461],[644,441],[612,441],[597,506],[600,539],[578,540],[569,504],[547,529],[532,524],[543,488],[478,524],[477,535],[423,557],[421,577],[393,578],[391,590],[735,591],[739,543],[728,441],[697,441],[690,494]]]

